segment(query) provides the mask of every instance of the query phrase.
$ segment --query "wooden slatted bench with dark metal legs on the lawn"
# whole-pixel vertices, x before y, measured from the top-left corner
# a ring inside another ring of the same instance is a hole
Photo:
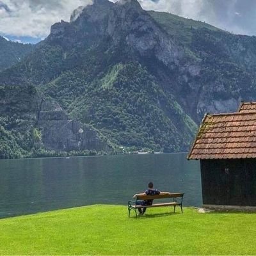
[[[184,193],[171,193],[170,195],[155,195],[155,196],[136,196],[135,201],[128,201],[128,212],[129,217],[131,210],[135,211],[136,217],[137,217],[137,209],[139,208],[152,208],[152,207],[164,207],[164,206],[173,206],[173,212],[175,212],[175,207],[179,205],[181,212],[182,210],[182,201],[183,201]],[[160,204],[152,204],[152,205],[137,205],[136,202],[138,200],[150,200],[150,199],[164,199],[164,198],[172,198],[173,200],[171,202],[166,203],[160,203]]]

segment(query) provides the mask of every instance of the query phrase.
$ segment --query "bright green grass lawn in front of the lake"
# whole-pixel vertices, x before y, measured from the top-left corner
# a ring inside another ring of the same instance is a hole
[[[1,255],[256,255],[256,214],[92,205],[0,220]]]

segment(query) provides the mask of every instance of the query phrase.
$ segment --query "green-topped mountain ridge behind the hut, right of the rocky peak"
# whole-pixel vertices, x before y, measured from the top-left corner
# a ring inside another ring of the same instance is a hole
[[[200,123],[205,113],[236,111],[241,100],[256,97],[256,37],[233,35],[204,22],[150,12],[194,58],[176,90],[186,113]]]

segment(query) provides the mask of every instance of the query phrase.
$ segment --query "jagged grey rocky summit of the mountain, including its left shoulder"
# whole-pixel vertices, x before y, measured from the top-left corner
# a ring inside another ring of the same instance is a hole
[[[90,2],[89,2],[90,3]],[[104,40],[109,47],[124,47],[127,56],[154,58],[173,68],[184,56],[184,51],[143,10],[137,0],[94,0],[79,6],[70,22],[60,22],[51,28],[50,39],[72,49],[74,45],[91,47]],[[131,54],[132,53],[132,54]]]

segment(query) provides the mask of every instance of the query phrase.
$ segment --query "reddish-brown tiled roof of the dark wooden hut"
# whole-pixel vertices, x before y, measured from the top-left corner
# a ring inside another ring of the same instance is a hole
[[[188,159],[256,157],[256,102],[243,103],[237,113],[206,115]]]

